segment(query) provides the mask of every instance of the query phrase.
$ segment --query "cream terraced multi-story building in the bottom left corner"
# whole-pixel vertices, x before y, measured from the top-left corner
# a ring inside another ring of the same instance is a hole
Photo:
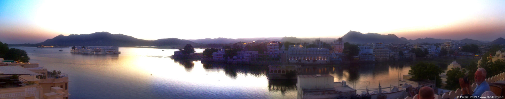
[[[47,71],[38,67],[38,63],[8,62],[14,65],[0,66],[0,98],[68,98],[70,95],[67,74]]]

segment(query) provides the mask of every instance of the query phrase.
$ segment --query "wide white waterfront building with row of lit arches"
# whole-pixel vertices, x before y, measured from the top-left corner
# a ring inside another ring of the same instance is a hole
[[[289,48],[288,62],[307,64],[329,63],[330,50],[325,48]]]

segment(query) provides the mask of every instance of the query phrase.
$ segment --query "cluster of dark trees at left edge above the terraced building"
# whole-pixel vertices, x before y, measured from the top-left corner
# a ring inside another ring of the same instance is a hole
[[[17,60],[19,62],[29,62],[30,57],[25,50],[11,48],[6,43],[0,42],[0,58],[5,60]]]

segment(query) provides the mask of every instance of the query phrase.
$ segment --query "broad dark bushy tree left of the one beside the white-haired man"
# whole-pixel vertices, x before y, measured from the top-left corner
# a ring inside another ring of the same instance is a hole
[[[436,85],[441,86],[442,79],[440,79],[440,73],[444,71],[442,68],[436,66],[433,63],[423,63],[419,62],[414,66],[411,66],[409,74],[413,75],[412,78],[415,80],[436,80]]]

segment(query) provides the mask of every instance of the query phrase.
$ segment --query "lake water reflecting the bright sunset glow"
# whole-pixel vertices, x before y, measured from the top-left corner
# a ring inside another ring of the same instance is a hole
[[[70,98],[296,98],[296,81],[268,80],[268,66],[174,60],[174,49],[124,48],[119,55],[71,54],[70,48],[26,50],[31,63],[69,75]],[[35,50],[35,51],[34,51]],[[195,49],[203,52],[204,49]],[[409,62],[331,65],[335,82],[356,89],[397,85]],[[151,75],[152,74],[152,75]],[[358,91],[357,93],[361,93]]]

